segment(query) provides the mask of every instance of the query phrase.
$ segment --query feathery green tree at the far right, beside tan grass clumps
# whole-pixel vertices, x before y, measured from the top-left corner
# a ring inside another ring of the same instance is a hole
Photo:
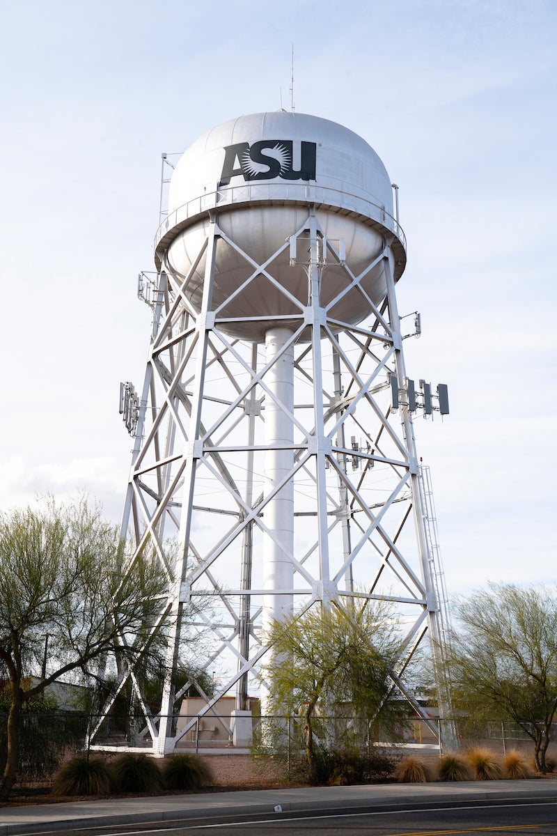
[[[539,772],[557,710],[557,592],[490,584],[457,604],[448,656],[453,703],[473,719],[513,721]]]

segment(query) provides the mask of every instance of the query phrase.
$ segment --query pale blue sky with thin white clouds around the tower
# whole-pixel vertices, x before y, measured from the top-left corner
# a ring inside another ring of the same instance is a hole
[[[399,186],[398,307],[423,326],[407,371],[451,405],[415,421],[448,593],[553,583],[557,4],[2,5],[0,509],[85,491],[119,520],[119,382],[144,376],[161,153],[293,100],[361,135]]]

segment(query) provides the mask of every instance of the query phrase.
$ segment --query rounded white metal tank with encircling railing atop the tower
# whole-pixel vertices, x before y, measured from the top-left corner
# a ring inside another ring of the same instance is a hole
[[[256,265],[265,265],[315,211],[332,246],[338,248],[343,240],[352,273],[362,273],[386,243],[395,278],[403,273],[404,237],[392,217],[385,166],[365,140],[329,120],[283,110],[241,116],[208,131],[185,151],[170,181],[169,212],[155,238],[155,259],[159,268],[189,276],[185,293],[196,310],[205,256],[196,260],[213,210],[220,230]],[[219,318],[235,319],[220,327],[257,342],[265,339],[276,317],[291,316],[296,327],[296,316],[308,304],[307,274],[301,266],[309,257],[308,233],[297,242],[295,266],[286,247],[266,268],[297,303],[261,273],[235,293],[256,270],[243,253],[218,239],[212,309]],[[385,294],[383,271],[379,263],[360,283],[375,304]],[[329,256],[322,273],[322,306],[349,283],[347,272]],[[370,311],[365,295],[353,288],[332,305],[328,316],[357,324]]]

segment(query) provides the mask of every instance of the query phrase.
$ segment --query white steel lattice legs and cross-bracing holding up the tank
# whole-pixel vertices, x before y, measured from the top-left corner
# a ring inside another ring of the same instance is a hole
[[[296,307],[287,321],[276,318],[274,326],[286,336],[274,353],[231,337],[234,322],[225,305],[213,305],[217,242],[251,268],[237,293],[256,280],[259,288],[267,282]],[[200,715],[232,688],[236,707],[245,709],[251,674],[268,651],[266,610],[302,611],[319,600],[393,602],[407,642],[392,680],[424,716],[400,676],[428,631],[439,662],[442,631],[406,398],[391,243],[385,236],[382,252],[354,275],[342,262],[342,245],[327,241],[315,207],[308,206],[291,240],[258,264],[223,232],[213,210],[190,273],[179,276],[162,265],[123,523],[134,543],[132,562],[154,548],[168,576],[154,627],[168,649],[160,712],[149,708],[133,668],[122,671],[119,682],[120,689],[129,678],[134,682],[144,716],[139,735],[155,754],[171,752],[195,723],[190,719],[176,732],[175,715],[190,681],[175,692],[171,675],[180,666],[191,670],[191,631],[205,637],[202,670],[219,665],[222,681]],[[289,252],[292,269],[306,273],[306,303],[273,277],[273,263]],[[342,269],[345,283],[322,304],[332,264]],[[361,284],[377,267],[387,288],[379,305]],[[205,278],[197,311],[185,288],[200,269]],[[331,318],[345,293],[362,294],[362,307],[372,310],[364,323]],[[286,357],[293,369],[290,402],[276,385],[277,365]],[[291,426],[286,441],[270,441],[271,412]],[[273,448],[286,451],[290,464],[269,482],[266,456]],[[287,492],[294,509],[290,540],[271,525],[272,503]],[[261,558],[269,543],[290,567],[289,588],[269,586]]]

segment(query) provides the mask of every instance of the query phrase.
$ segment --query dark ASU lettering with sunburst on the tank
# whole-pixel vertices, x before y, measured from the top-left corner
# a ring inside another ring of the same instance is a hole
[[[236,142],[225,146],[225,161],[220,175],[220,186],[228,186],[232,177],[243,176],[245,181],[315,180],[316,143],[300,143],[300,168],[294,169],[292,140],[259,140]]]

